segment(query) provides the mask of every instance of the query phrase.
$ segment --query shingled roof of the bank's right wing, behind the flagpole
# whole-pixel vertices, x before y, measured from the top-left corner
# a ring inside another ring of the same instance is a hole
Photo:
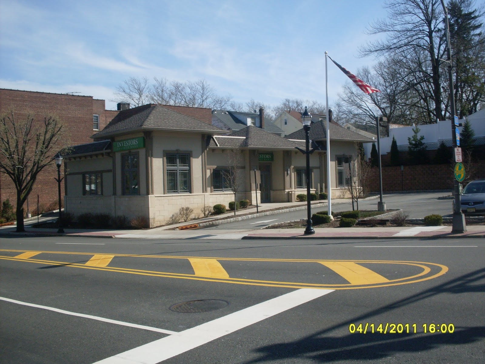
[[[314,141],[318,140],[326,140],[326,122],[323,120],[317,121],[316,123],[311,124],[310,128],[310,139]],[[352,132],[348,129],[342,128],[338,124],[328,123],[328,128],[330,132],[330,140],[347,140],[347,141],[357,141],[363,143],[372,142],[372,139],[360,135],[356,132]],[[296,132],[292,132],[291,134],[285,136],[287,139],[291,140],[305,140],[305,130],[300,129]]]

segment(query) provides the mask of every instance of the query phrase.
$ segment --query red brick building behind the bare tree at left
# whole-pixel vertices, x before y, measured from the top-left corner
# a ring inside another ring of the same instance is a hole
[[[13,111],[15,117],[23,118],[27,113],[33,113],[35,120],[41,122],[45,116],[53,115],[61,120],[68,145],[90,143],[95,132],[103,128],[118,114],[118,111],[105,110],[105,100],[94,99],[92,96],[69,94],[54,94],[0,89],[0,114]],[[55,165],[46,167],[38,175],[32,193],[29,197],[29,210],[36,209],[37,195],[41,205],[47,206],[58,200],[57,177]],[[62,195],[64,196],[64,183]],[[16,189],[11,179],[0,173],[0,200],[10,199],[16,204]],[[24,206],[27,212],[27,206]]]

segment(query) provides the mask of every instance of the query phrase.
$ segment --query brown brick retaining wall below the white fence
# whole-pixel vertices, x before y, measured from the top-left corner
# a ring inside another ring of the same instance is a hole
[[[471,179],[485,178],[485,161],[473,165]],[[470,169],[470,168],[469,168]],[[465,166],[467,178],[467,166]],[[452,190],[454,174],[451,165],[404,165],[401,167],[382,167],[382,190],[391,191],[427,191]],[[467,181],[469,179],[467,178]],[[371,191],[379,191],[379,169],[372,168]]]

